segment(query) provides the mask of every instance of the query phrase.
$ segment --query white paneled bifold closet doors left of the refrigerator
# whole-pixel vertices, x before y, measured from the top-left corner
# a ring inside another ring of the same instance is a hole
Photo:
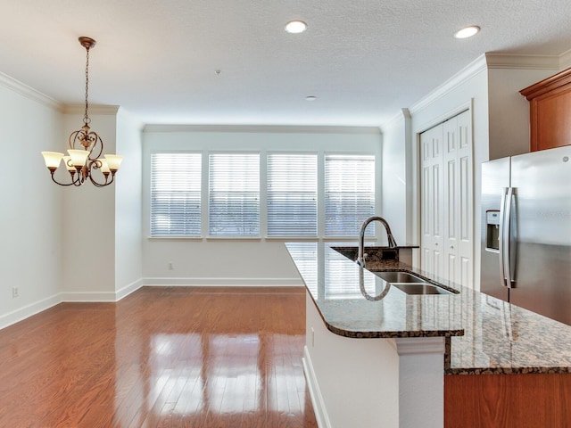
[[[473,286],[473,168],[469,111],[421,134],[421,268]]]

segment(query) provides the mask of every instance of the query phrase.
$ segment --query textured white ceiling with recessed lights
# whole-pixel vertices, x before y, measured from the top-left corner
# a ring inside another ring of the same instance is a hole
[[[145,123],[377,126],[482,53],[567,52],[571,1],[0,0],[0,71],[62,103],[83,100],[79,36],[90,103]]]

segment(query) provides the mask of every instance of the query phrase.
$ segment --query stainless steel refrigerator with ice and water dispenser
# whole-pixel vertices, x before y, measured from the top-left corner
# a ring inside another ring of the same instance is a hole
[[[571,146],[482,165],[480,291],[571,325]]]

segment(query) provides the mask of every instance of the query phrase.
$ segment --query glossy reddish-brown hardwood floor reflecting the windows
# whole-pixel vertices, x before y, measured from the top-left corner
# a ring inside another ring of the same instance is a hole
[[[317,427],[302,288],[144,287],[0,330],[0,427]]]

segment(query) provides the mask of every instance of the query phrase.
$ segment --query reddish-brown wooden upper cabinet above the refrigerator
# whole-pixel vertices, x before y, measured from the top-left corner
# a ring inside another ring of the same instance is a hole
[[[519,93],[530,103],[532,152],[571,144],[571,68]]]

